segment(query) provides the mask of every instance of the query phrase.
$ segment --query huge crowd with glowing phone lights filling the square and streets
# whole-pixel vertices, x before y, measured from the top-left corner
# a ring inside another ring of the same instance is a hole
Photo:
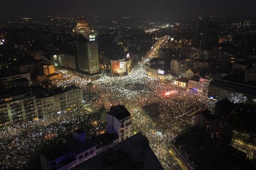
[[[101,121],[101,108],[108,111],[111,105],[125,105],[132,116],[133,133],[141,131],[165,169],[179,169],[169,153],[169,141],[193,124],[187,113],[198,105],[212,109],[214,102],[200,92],[189,91],[171,82],[161,82],[147,75],[149,59],[157,56],[164,37],[152,47],[133,72],[124,77],[103,75],[96,81],[87,80],[78,73],[58,70],[62,80],[53,80],[52,87],[76,85],[82,87],[84,103],[89,106],[49,116],[33,122],[8,127],[0,132],[0,167],[28,168],[43,146],[60,142],[61,136],[77,128],[84,128],[87,136],[105,131]],[[141,84],[143,89],[127,90],[129,84]],[[151,106],[154,106],[152,110]],[[158,132],[158,133],[157,133]]]

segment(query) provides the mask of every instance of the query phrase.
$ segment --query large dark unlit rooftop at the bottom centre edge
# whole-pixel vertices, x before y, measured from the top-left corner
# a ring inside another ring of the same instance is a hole
[[[74,170],[163,170],[147,138],[137,133],[79,164]]]

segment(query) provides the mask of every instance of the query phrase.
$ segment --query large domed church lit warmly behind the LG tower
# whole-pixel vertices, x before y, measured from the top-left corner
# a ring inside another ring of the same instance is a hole
[[[90,33],[93,31],[90,29],[89,23],[84,18],[77,21],[76,27],[73,29],[74,34],[81,34],[85,38],[89,38]]]

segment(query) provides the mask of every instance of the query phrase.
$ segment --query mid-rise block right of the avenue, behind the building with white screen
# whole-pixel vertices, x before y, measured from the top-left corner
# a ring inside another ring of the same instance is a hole
[[[185,73],[190,69],[191,61],[189,59],[172,59],[171,61],[171,73],[172,75],[179,75]]]

